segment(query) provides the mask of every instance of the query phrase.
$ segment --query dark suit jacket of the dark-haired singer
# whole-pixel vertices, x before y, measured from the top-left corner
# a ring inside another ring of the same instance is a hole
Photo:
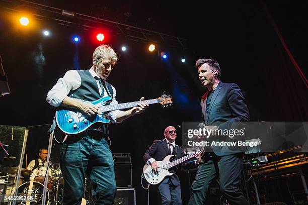
[[[238,124],[234,122],[249,121],[249,111],[245,104],[245,98],[240,87],[235,83],[219,82],[211,98],[208,114],[206,114],[206,92],[201,98],[201,107],[204,121],[207,125],[218,126],[219,129],[238,129]],[[236,138],[235,138],[236,139]],[[234,139],[234,140],[235,140]],[[213,139],[215,141],[231,140]],[[232,150],[230,150],[230,148]],[[218,156],[229,155],[242,152],[242,148],[236,147],[216,147],[212,146],[212,150]]]

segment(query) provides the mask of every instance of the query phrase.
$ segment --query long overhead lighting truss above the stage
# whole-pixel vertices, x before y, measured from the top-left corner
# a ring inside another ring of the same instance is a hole
[[[106,33],[125,36],[126,39],[135,42],[157,42],[172,49],[185,48],[184,45],[187,42],[187,39],[181,37],[121,24],[100,18],[97,15],[89,16],[25,0],[0,0],[0,2],[2,2],[4,11],[13,14],[31,11],[30,15],[36,19],[53,20],[63,26],[78,26],[87,31],[101,29],[103,26],[106,28]],[[67,19],[64,15],[73,18]]]

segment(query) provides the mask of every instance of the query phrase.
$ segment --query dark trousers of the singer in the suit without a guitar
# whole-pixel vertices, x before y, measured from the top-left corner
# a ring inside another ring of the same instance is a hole
[[[198,167],[188,204],[203,205],[208,198],[209,186],[217,177],[220,191],[230,204],[249,204],[239,188],[243,154],[219,157],[212,152],[209,155],[208,161]]]

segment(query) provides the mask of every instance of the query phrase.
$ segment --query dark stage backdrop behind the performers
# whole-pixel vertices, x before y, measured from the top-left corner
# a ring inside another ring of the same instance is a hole
[[[116,87],[119,102],[135,101],[141,96],[157,98],[164,91],[173,97],[171,108],[152,105],[140,116],[109,126],[112,152],[132,155],[138,204],[146,200],[139,182],[146,148],[154,139],[163,139],[167,126],[201,120],[199,102],[206,89],[201,86],[194,66],[198,58],[216,59],[221,67],[221,80],[235,82],[242,88],[251,121],[307,121],[307,88],[282,47],[261,1],[35,2],[188,39],[185,49],[169,49],[167,61],[157,53],[147,52],[147,44],[127,41],[125,37],[110,36],[103,42],[118,53],[118,64],[107,81]],[[270,1],[265,5],[306,74],[305,2]],[[126,12],[131,16],[125,16]],[[11,94],[0,98],[0,124],[28,127],[52,123],[55,109],[45,100],[48,90],[67,70],[89,69],[93,50],[99,44],[91,40],[89,32],[79,28],[50,21],[25,29],[12,25],[12,16],[1,12],[0,55]],[[51,28],[48,38],[41,34],[45,27]],[[81,36],[80,43],[71,41],[74,34]],[[121,51],[123,44],[127,46],[126,52]],[[180,62],[182,56],[186,57],[185,63]],[[33,146],[28,148],[29,156],[35,156],[33,150],[40,144],[47,146],[47,136],[42,134],[36,140],[29,143]],[[181,145],[180,135],[176,143]],[[188,197],[185,178],[182,177],[184,201]],[[152,188],[152,198],[156,198],[155,193]]]

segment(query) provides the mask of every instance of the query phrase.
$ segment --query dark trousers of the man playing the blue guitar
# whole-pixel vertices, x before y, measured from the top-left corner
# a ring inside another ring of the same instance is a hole
[[[62,144],[60,167],[64,177],[63,204],[81,204],[86,176],[96,193],[96,204],[113,204],[116,193],[114,161],[104,138],[87,135]]]

